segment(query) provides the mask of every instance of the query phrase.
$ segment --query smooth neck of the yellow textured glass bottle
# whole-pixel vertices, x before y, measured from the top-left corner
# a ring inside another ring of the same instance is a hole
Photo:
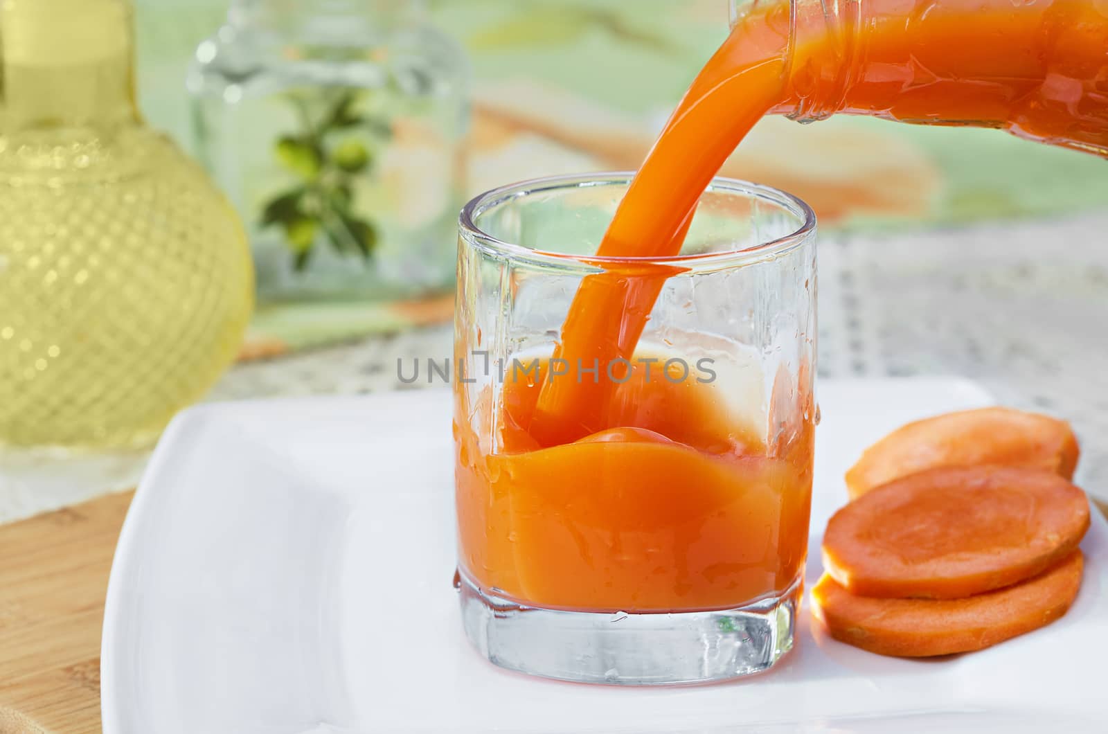
[[[140,120],[127,0],[0,0],[0,134]]]

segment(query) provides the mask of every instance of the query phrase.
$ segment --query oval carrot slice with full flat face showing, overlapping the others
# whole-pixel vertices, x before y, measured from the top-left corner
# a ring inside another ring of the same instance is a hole
[[[1085,492],[1048,471],[931,469],[835,512],[823,568],[863,597],[958,599],[1042,573],[1088,527]]]

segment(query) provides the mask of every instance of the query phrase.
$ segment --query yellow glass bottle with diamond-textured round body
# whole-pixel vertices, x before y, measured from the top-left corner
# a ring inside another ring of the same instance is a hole
[[[126,0],[0,0],[0,447],[148,442],[234,359],[246,238],[135,104]]]

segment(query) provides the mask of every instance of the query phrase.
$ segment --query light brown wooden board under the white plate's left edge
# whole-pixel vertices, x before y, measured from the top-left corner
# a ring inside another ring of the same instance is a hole
[[[133,492],[0,527],[0,734],[100,726],[100,629]]]

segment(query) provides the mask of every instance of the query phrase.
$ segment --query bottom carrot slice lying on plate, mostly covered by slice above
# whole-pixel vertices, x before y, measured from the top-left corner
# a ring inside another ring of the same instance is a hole
[[[982,650],[1046,626],[1081,587],[1081,551],[1014,587],[967,599],[855,597],[824,574],[812,613],[832,638],[881,655],[929,657]]]

